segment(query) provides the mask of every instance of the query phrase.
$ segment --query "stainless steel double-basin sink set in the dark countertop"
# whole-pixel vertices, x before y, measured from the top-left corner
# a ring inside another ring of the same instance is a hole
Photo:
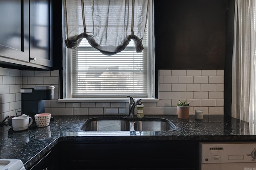
[[[84,131],[170,131],[176,126],[164,118],[94,117],[85,121]]]

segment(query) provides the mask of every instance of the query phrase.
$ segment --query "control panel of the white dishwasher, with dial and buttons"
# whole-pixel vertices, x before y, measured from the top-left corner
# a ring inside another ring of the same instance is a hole
[[[199,162],[201,164],[256,163],[256,142],[202,142],[199,143],[199,153]]]

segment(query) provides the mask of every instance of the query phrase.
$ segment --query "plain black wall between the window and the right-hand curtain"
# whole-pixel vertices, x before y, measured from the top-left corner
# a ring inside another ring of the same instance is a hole
[[[231,114],[233,8],[234,0],[154,0],[156,96],[160,69],[221,69]]]

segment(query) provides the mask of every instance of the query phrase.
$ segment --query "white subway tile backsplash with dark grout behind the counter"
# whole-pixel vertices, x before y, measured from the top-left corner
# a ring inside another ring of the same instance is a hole
[[[128,115],[128,102],[58,102],[58,76],[58,70],[0,68],[2,113],[20,110],[21,87],[55,86],[54,99],[45,101],[45,111],[52,115]],[[204,114],[224,114],[224,70],[159,70],[158,83],[159,102],[142,100],[145,115],[176,115],[178,99],[191,102],[190,114],[195,109],[202,109]]]

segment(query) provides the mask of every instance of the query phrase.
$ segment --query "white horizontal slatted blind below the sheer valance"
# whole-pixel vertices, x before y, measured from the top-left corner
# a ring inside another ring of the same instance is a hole
[[[72,50],[72,97],[148,98],[147,36],[143,45],[143,52],[136,53],[131,41],[124,51],[107,56],[83,39]]]

